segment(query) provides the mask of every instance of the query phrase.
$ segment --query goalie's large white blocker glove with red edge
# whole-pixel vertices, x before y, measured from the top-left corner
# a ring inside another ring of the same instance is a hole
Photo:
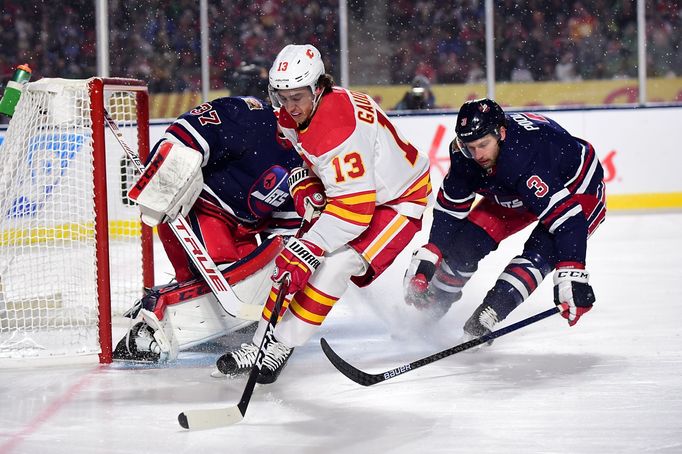
[[[201,153],[166,141],[128,192],[140,205],[142,222],[153,227],[186,216],[201,194]]]

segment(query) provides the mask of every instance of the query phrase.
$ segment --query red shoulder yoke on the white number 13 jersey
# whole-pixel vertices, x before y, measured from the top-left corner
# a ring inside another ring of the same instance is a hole
[[[355,128],[355,109],[348,94],[335,89],[322,97],[310,126],[299,132],[299,140],[308,153],[322,156],[345,142]]]

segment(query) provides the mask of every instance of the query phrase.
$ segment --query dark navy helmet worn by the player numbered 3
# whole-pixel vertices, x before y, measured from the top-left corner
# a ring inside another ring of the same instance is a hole
[[[465,102],[457,114],[455,133],[460,150],[468,158],[471,153],[466,147],[467,142],[473,142],[488,134],[493,134],[499,140],[500,127],[506,126],[507,120],[499,104],[489,98],[475,99]]]

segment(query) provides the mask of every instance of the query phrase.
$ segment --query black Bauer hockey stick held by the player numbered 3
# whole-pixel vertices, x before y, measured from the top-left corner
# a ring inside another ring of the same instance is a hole
[[[455,353],[459,353],[464,350],[476,347],[477,345],[484,344],[495,338],[504,336],[507,333],[516,331],[519,328],[523,328],[524,326],[530,325],[531,323],[535,323],[551,315],[558,314],[559,312],[560,310],[558,307],[547,309],[544,312],[540,312],[539,314],[533,315],[516,323],[512,323],[511,325],[505,326],[504,328],[498,329],[497,331],[492,331],[481,337],[477,337],[476,339],[464,342],[463,344],[459,344],[455,347],[448,348],[447,350],[434,353],[433,355],[427,356],[426,358],[412,361],[409,364],[404,364],[402,366],[396,367],[391,370],[387,370],[386,372],[382,372],[380,374],[369,374],[352,366],[351,364],[346,362],[346,360],[337,355],[336,352],[332,350],[332,348],[329,346],[329,344],[324,338],[320,339],[320,344],[322,345],[322,351],[324,352],[324,354],[327,355],[329,361],[332,363],[332,365],[334,365],[334,367],[336,367],[339,370],[339,372],[353,380],[355,383],[358,383],[362,386],[371,386],[382,381],[389,380],[393,377],[397,377],[398,375],[402,375],[405,372],[417,369],[418,367],[426,366],[427,364],[438,361],[439,359],[447,358],[448,356],[454,355]]]

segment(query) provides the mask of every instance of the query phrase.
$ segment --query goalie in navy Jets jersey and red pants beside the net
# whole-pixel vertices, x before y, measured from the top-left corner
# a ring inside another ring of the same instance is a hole
[[[221,308],[168,221],[186,216],[214,262],[231,265],[224,275],[237,296],[262,306],[282,236],[301,227],[297,209],[306,191],[298,192],[295,204],[287,180],[303,162],[278,136],[276,112],[256,97],[218,98],[184,113],[148,162],[144,184],[129,196],[140,205],[143,222],[158,227],[175,282],[151,289],[129,311],[141,320],[118,343],[114,358],[164,361],[252,323]]]

